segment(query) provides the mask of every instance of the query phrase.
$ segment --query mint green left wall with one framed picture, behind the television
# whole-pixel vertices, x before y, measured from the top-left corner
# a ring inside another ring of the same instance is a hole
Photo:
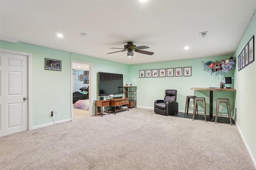
[[[129,65],[126,64],[28,43],[0,41],[0,48],[32,54],[32,127],[52,123],[52,117],[50,116],[52,110],[58,112],[53,117],[55,122],[71,118],[71,60],[84,61],[92,64],[92,76],[90,77],[92,102],[97,96],[98,71],[124,75],[128,75],[129,71]],[[61,71],[45,70],[45,58],[61,60]],[[94,109],[94,107],[90,109]]]

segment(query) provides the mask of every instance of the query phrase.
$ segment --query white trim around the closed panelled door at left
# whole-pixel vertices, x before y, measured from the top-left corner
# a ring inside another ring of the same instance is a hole
[[[30,53],[24,53],[20,51],[13,51],[8,49],[0,49],[1,52],[9,53],[9,54],[16,54],[16,55],[23,55],[27,57],[27,98],[28,98],[28,113],[27,113],[27,119],[28,119],[28,125],[27,130],[32,130],[32,54]]]

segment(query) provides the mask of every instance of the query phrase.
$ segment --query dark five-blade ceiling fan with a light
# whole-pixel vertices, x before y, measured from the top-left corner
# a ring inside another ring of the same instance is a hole
[[[133,42],[127,42],[127,44],[124,45],[124,48],[113,48],[113,49],[123,49],[121,51],[127,51],[127,56],[128,57],[133,56],[133,51],[135,51],[137,53],[147,54],[147,55],[153,55],[154,54],[150,51],[141,50],[141,49],[146,49],[146,48],[149,48],[149,47],[147,47],[145,45],[136,47],[136,45],[133,45],[132,43]],[[112,53],[118,53],[118,52],[121,52],[121,51],[115,51],[115,52],[112,52]],[[112,54],[112,53],[107,53],[107,54]]]

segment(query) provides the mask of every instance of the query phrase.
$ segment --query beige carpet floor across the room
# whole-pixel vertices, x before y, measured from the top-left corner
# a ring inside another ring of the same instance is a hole
[[[1,170],[255,170],[236,125],[133,108],[2,136]]]

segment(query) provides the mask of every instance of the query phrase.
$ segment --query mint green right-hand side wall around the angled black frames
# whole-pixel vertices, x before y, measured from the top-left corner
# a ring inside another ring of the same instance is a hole
[[[254,157],[256,166],[256,14],[252,17],[234,56],[240,55],[242,49],[254,35],[254,62],[244,69],[235,71],[234,87],[236,92],[236,122],[248,148]]]

